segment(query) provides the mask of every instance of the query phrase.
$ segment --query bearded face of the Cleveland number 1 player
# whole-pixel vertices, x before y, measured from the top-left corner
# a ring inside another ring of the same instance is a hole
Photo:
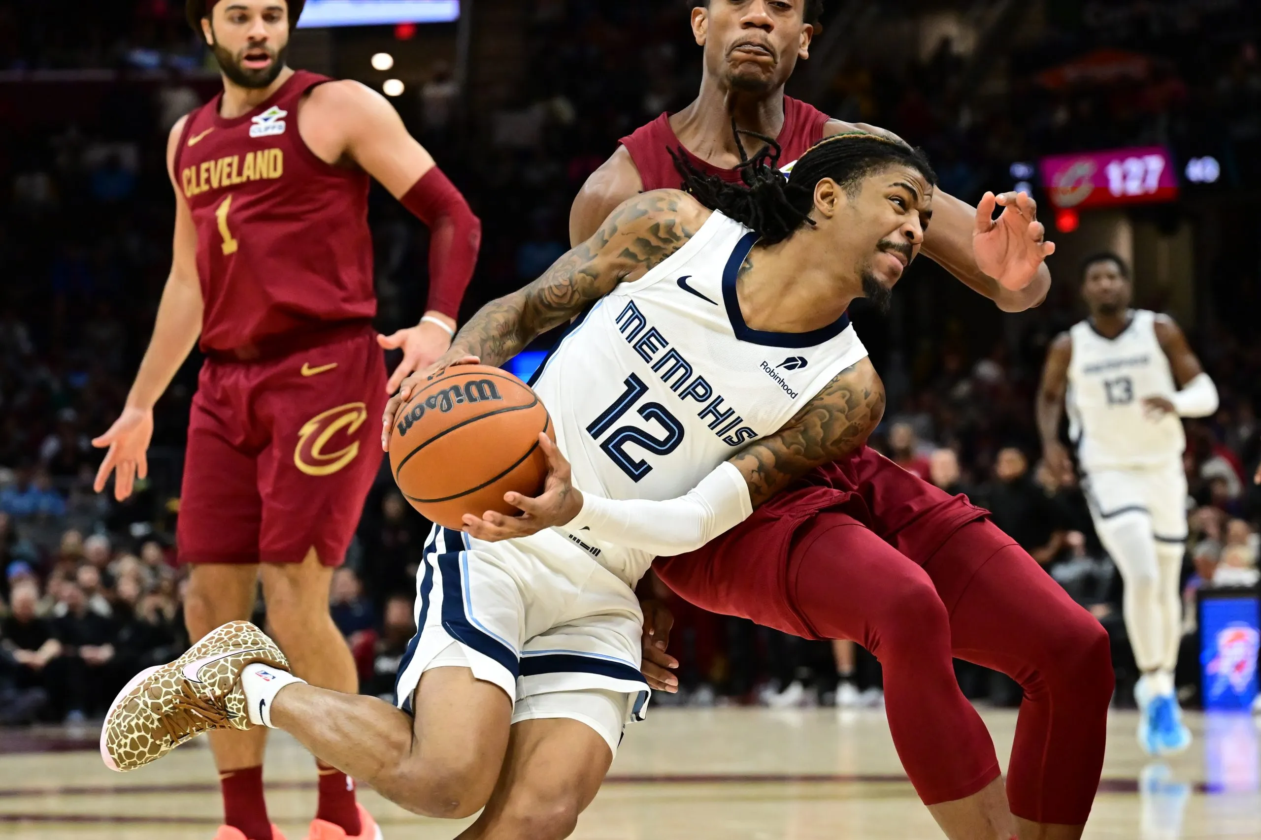
[[[285,0],[219,0],[202,20],[206,42],[235,85],[264,88],[285,67],[289,8]]]

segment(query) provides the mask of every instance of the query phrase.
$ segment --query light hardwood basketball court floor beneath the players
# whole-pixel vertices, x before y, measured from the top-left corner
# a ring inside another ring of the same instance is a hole
[[[1150,763],[1134,713],[1108,725],[1103,783],[1086,837],[1261,837],[1261,719],[1189,714],[1190,750]],[[1014,711],[986,711],[1000,757]],[[95,732],[0,733],[0,836],[208,840],[219,796],[204,740],[140,771],[101,764]],[[272,820],[305,836],[315,808],[309,755],[284,734],[267,755]],[[416,817],[363,797],[387,840],[454,837],[465,822]],[[583,815],[581,840],[937,840],[881,711],[658,709],[632,726]]]

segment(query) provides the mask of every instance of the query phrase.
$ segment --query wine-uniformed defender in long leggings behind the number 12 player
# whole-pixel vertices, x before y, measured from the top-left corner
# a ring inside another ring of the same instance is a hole
[[[733,120],[774,137],[784,161],[855,129],[897,140],[784,96],[821,11],[822,0],[694,3],[692,33],[704,48],[700,95],[622,139],[574,201],[571,241],[584,241],[639,190],[678,188],[671,153],[706,174],[740,180],[745,150]],[[991,221],[999,204],[1005,209]],[[972,208],[936,190],[923,252],[1004,312],[1035,306],[1050,284],[1044,257],[1053,251],[1035,212],[1023,193],[986,193]],[[781,358],[792,356],[783,349]],[[712,612],[806,638],[852,639],[875,653],[898,754],[947,836],[1081,836],[1103,763],[1112,694],[1107,634],[966,497],[947,496],[861,446],[704,547],[658,557],[653,569]],[[661,667],[673,665],[663,650],[668,614],[646,604],[644,615],[644,674],[653,687],[673,690]],[[1006,672],[1025,689],[1005,788],[985,725],[955,681],[952,656]]]

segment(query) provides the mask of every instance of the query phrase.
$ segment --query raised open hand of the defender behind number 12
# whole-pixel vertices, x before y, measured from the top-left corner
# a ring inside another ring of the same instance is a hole
[[[994,208],[1002,207],[999,218]],[[1055,243],[1045,241],[1047,230],[1038,221],[1038,202],[1026,193],[985,193],[976,207],[976,228],[972,231],[972,254],[985,274],[1011,291],[1020,291],[1055,252]]]

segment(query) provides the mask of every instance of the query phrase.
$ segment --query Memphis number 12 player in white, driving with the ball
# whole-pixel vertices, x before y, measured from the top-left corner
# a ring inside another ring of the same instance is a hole
[[[540,436],[543,493],[506,494],[522,516],[467,515],[429,539],[398,708],[306,685],[237,622],[124,689],[108,759],[131,769],[207,729],[276,726],[419,814],[484,806],[460,836],[567,836],[647,700],[633,588],[652,559],[850,454],[884,410],[845,312],[886,301],[918,254],[932,169],[866,134],[823,140],[787,180],[767,154],[750,164],[757,189],[718,182],[741,193],[723,203],[741,221],[680,190],[637,195],[484,306],[429,372],[502,365],[585,313],[535,382],[556,430],[555,445]],[[689,183],[702,201],[715,189]],[[387,406],[383,443],[406,434],[396,411],[425,381]]]

